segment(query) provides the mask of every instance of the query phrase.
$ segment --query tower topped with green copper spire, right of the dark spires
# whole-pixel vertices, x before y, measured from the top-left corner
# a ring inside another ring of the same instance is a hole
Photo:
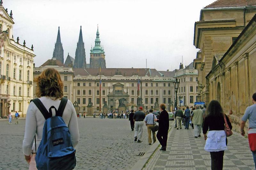
[[[106,68],[105,51],[100,46],[99,27],[96,33],[95,46],[91,48],[90,68]]]

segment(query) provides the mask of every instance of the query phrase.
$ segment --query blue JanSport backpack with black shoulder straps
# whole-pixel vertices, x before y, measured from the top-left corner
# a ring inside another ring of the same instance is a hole
[[[52,106],[49,112],[39,99],[31,100],[45,118],[42,140],[36,152],[38,170],[70,170],[76,166],[76,150],[72,146],[67,125],[62,119],[68,99],[63,97],[58,110]],[[52,117],[52,108],[56,116]],[[36,143],[35,143],[36,144]]]

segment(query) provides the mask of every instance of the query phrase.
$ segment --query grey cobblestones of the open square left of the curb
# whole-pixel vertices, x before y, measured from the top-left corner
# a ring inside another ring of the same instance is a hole
[[[134,142],[128,119],[78,119],[80,141],[76,146],[76,169],[130,169],[139,152],[150,145],[143,126],[142,143]],[[28,169],[22,152],[25,119],[19,124],[0,121],[0,170]]]

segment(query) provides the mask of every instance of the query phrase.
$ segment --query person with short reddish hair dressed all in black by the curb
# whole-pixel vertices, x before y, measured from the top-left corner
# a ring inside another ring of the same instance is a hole
[[[166,151],[166,145],[167,145],[167,135],[169,130],[169,115],[165,110],[165,105],[160,105],[160,112],[159,119],[157,119],[157,122],[159,123],[159,129],[156,134],[156,137],[160,144],[162,145],[162,148],[160,151]]]

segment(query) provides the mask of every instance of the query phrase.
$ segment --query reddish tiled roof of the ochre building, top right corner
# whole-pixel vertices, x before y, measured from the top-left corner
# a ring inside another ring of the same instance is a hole
[[[217,0],[204,8],[225,8],[255,6],[256,0]]]

